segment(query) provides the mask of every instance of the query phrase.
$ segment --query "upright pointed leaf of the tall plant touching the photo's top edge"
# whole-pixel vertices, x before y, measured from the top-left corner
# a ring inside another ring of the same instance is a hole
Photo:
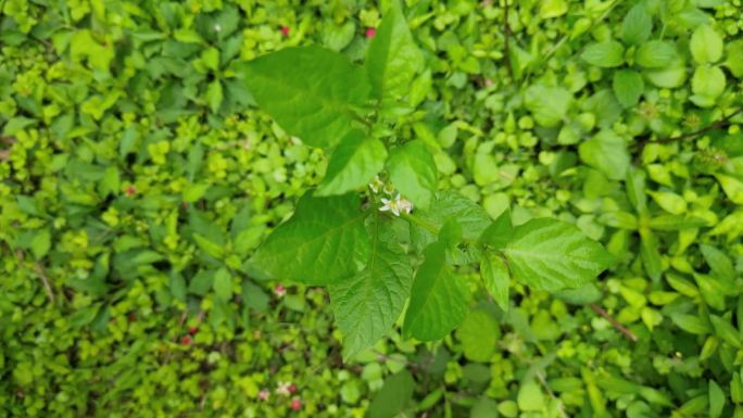
[[[398,0],[391,2],[382,24],[369,43],[366,72],[372,81],[372,96],[394,100],[407,93],[411,81],[423,67],[423,55],[407,28]]]

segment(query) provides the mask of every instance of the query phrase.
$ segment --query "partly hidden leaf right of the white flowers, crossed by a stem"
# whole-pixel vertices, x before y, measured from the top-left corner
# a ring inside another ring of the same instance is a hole
[[[416,212],[415,216],[436,228],[454,219],[462,227],[462,238],[477,240],[490,224],[490,216],[482,206],[455,191],[442,191],[436,194],[428,211]],[[411,240],[418,252],[437,240],[437,236],[415,224],[411,225]]]

